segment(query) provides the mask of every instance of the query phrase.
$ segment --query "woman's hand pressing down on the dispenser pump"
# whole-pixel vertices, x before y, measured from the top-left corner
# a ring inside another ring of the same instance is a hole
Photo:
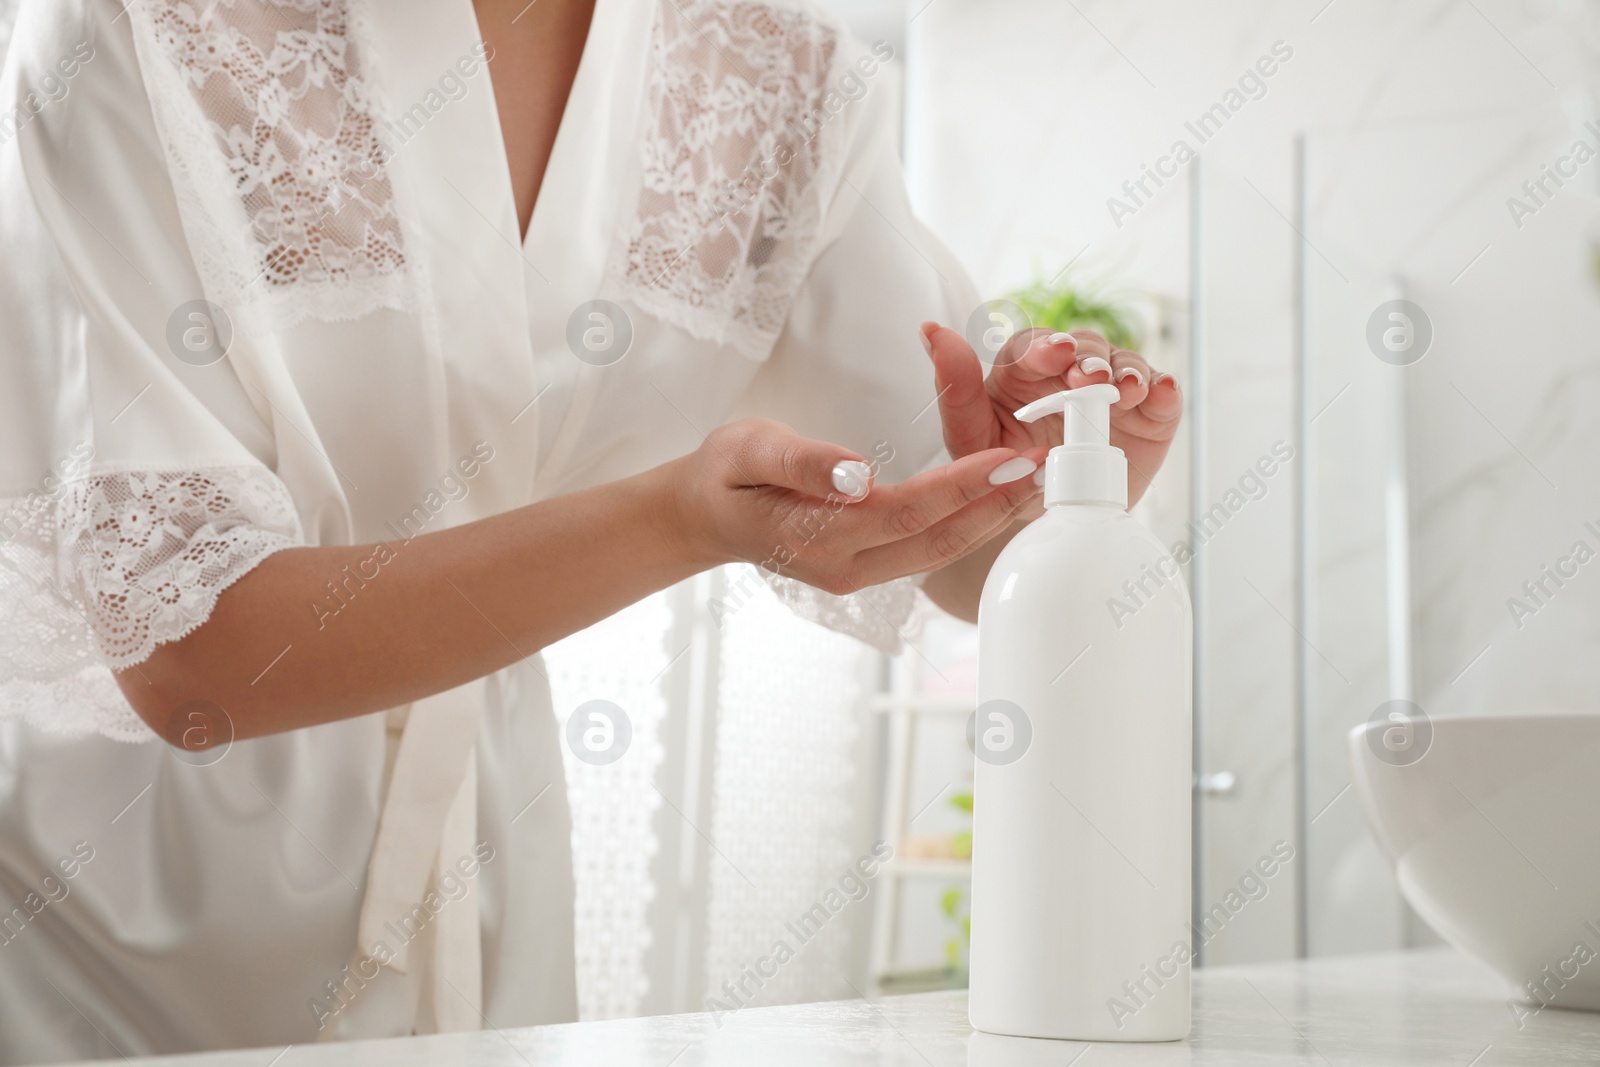
[[[1019,330],[1000,349],[987,379],[978,354],[955,330],[923,323],[922,339],[939,390],[944,446],[955,458],[1059,445],[1059,421],[1018,422],[1011,413],[1062,389],[1114,382],[1122,400],[1110,410],[1110,443],[1128,456],[1128,504],[1134,504],[1178,434],[1178,381],[1093,330]]]

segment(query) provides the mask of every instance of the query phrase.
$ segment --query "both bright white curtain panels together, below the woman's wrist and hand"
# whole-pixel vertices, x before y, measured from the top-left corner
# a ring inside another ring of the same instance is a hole
[[[614,765],[566,753],[582,1019],[706,1009],[779,937],[795,958],[750,1003],[851,997],[870,907],[803,947],[784,923],[872,845],[877,725],[862,707],[880,654],[795,617],[741,566],[546,656],[562,721],[608,699],[634,731]],[[696,715],[694,729],[669,721]]]

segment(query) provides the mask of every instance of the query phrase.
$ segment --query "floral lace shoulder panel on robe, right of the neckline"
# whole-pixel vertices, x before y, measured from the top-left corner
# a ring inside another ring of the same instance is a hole
[[[642,189],[608,290],[694,338],[766,357],[843,166],[842,45],[800,6],[661,3]]]

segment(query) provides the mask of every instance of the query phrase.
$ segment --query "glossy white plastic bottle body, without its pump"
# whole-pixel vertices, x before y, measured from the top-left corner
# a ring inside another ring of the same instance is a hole
[[[976,1029],[1189,1035],[1192,625],[1176,561],[1122,509],[1050,507],[995,560],[978,622]],[[986,729],[1008,739],[1000,701],[1027,720],[1021,755],[986,747]]]

